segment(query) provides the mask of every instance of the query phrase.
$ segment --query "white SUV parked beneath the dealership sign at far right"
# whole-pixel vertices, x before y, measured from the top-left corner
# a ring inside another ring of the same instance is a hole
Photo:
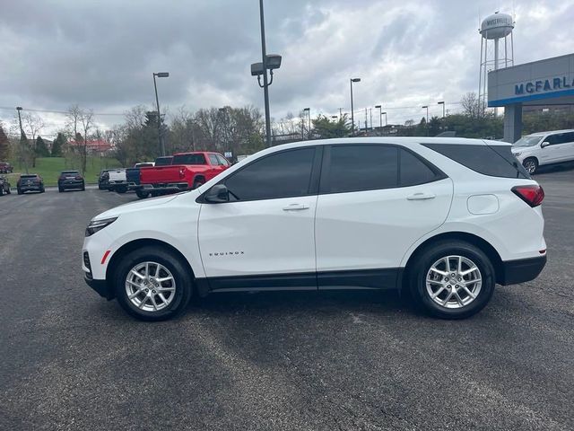
[[[574,162],[574,130],[523,136],[512,145],[512,154],[531,174],[544,164]]]

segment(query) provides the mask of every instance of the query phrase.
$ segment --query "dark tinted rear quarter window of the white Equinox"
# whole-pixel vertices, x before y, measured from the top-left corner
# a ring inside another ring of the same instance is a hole
[[[512,155],[510,145],[422,145],[483,175],[530,179],[528,172]]]

